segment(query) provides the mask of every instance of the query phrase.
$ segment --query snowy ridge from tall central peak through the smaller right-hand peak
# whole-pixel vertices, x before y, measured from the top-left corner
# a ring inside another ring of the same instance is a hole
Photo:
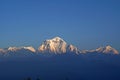
[[[67,44],[62,38],[55,37],[53,39],[45,40],[40,47],[38,48],[39,52],[42,53],[67,53],[72,52],[76,54],[84,54],[84,53],[112,53],[119,54],[119,52],[112,48],[111,46],[100,47],[95,50],[79,50],[77,47]]]

